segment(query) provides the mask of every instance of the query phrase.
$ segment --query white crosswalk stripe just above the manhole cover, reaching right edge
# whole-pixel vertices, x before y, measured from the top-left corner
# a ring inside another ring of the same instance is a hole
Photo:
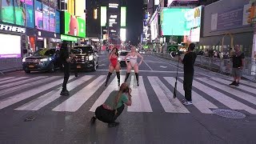
[[[225,94],[218,92],[218,90],[214,90],[197,81],[193,81],[193,84],[194,84],[193,86],[196,87],[198,90],[203,91],[204,93],[208,94],[210,97],[216,99],[218,102],[221,102],[223,105],[230,107],[230,109],[232,110],[246,110],[250,114],[256,114],[256,110],[254,110],[250,106],[246,106],[242,102],[238,102],[234,98],[230,98]]]

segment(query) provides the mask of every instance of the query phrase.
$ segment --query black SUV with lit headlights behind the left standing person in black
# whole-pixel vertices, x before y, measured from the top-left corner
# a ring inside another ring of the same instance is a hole
[[[76,64],[71,64],[71,69],[78,70],[97,70],[98,51],[93,46],[74,46],[71,53],[75,54]]]

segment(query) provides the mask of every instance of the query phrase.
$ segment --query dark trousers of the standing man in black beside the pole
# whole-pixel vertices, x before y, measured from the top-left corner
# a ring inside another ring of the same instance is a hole
[[[185,91],[186,101],[192,101],[192,82],[193,82],[194,72],[186,73],[184,72],[183,89]]]

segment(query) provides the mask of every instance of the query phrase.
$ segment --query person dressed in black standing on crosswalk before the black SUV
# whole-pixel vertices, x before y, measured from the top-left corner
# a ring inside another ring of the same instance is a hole
[[[62,83],[62,92],[61,92],[62,96],[70,95],[70,92],[68,90],[66,90],[66,84],[70,78],[70,62],[74,58],[74,54],[70,54],[69,48],[67,45],[68,45],[68,42],[63,41],[61,49],[60,49],[60,59],[61,59],[62,65],[64,66],[63,67],[64,80]]]

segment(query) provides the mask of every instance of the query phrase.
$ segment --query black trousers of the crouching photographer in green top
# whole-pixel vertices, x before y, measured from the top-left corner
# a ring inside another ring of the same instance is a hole
[[[95,110],[96,118],[102,122],[112,123],[114,122],[120,114],[122,114],[122,110],[125,108],[125,105],[122,105],[118,108],[118,114],[114,114],[115,110],[106,110],[103,106],[98,106]]]

